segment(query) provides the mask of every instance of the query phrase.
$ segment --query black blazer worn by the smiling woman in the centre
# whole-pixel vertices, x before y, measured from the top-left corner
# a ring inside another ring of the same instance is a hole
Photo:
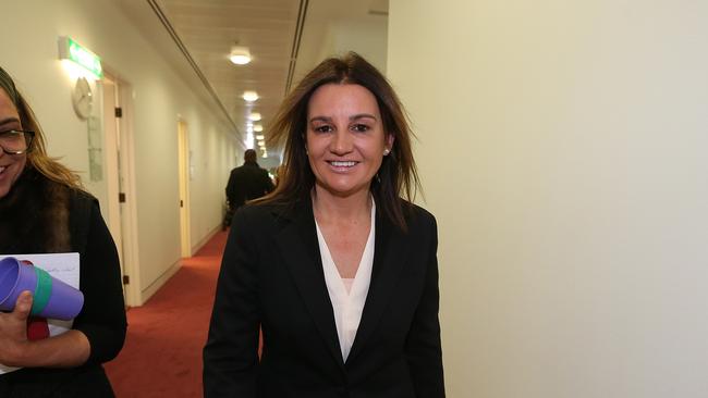
[[[204,349],[205,397],[444,397],[437,225],[406,206],[407,233],[376,214],[371,283],[346,362],[312,202],[240,209]]]

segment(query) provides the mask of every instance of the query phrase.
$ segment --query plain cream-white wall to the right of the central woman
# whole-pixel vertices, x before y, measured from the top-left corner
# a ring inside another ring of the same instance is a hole
[[[708,3],[392,0],[451,397],[708,394]]]

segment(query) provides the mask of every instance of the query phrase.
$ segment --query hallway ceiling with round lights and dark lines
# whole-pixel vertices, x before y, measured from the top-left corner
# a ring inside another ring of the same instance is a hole
[[[252,111],[267,130],[288,89],[326,57],[354,50],[386,71],[388,0],[146,1],[122,3],[183,77],[206,87],[241,140]],[[249,49],[249,64],[229,61],[234,45]],[[248,103],[245,90],[260,98]]]

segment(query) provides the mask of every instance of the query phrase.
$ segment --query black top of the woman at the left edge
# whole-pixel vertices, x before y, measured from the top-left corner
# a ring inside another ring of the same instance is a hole
[[[112,397],[102,362],[115,358],[125,338],[121,271],[98,201],[51,182],[32,169],[0,199],[0,253],[78,251],[84,307],[73,328],[90,344],[78,368],[25,368],[0,375],[0,397]]]

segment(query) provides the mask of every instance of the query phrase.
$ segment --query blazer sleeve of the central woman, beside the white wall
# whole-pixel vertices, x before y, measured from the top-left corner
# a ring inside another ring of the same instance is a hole
[[[438,227],[429,215],[431,233],[423,296],[411,324],[405,344],[406,359],[416,390],[416,397],[444,397],[438,288]]]

